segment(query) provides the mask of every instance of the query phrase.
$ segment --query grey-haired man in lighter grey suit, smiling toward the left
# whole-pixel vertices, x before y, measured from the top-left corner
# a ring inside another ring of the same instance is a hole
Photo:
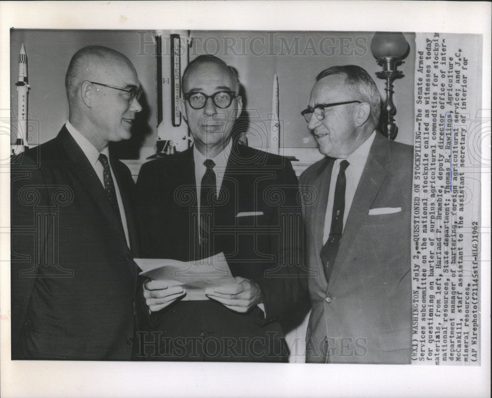
[[[327,157],[302,175],[312,311],[307,362],[410,363],[413,148],[375,130],[380,97],[359,66],[316,78],[302,112]]]

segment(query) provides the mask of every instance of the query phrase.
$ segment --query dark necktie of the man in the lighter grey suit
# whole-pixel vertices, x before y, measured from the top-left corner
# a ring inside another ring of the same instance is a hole
[[[333,269],[333,263],[337,257],[338,245],[343,232],[343,212],[345,210],[345,169],[349,163],[346,160],[340,162],[340,171],[338,172],[337,185],[335,186],[335,199],[333,201],[332,225],[330,235],[325,245],[321,249],[320,257],[323,262],[326,281],[330,279]]]

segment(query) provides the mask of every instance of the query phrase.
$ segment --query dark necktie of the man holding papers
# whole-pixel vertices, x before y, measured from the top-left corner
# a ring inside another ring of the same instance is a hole
[[[212,232],[213,207],[216,198],[215,162],[207,159],[203,164],[206,167],[202,177],[200,188],[200,257],[207,258],[212,255],[212,243],[210,234]]]

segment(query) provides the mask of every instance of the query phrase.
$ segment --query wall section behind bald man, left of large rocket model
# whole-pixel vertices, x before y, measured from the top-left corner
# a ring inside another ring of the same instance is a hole
[[[155,57],[140,51],[142,34],[136,31],[11,30],[10,108],[16,117],[15,83],[19,51],[24,43],[31,86],[28,114],[33,131],[29,131],[29,144],[37,145],[54,138],[68,119],[65,73],[73,54],[86,45],[103,45],[120,51],[130,59],[144,88],[144,109],[138,114],[132,128],[131,141],[113,148],[119,157],[140,159],[141,148],[155,143],[156,126]]]

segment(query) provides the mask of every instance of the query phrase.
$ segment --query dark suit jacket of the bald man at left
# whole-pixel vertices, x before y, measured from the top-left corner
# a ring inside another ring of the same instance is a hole
[[[11,162],[13,359],[130,360],[134,183],[111,161],[130,246],[87,157],[63,126]]]

